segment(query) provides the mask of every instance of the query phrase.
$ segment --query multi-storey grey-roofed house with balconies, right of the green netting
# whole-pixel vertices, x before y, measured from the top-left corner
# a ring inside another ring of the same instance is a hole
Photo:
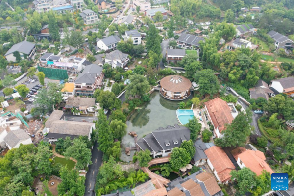
[[[103,68],[91,64],[87,65],[82,73],[74,80],[77,96],[93,96],[94,91],[102,86],[104,79]]]

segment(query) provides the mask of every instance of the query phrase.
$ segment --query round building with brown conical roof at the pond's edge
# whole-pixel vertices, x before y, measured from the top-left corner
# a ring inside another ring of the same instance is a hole
[[[160,95],[169,100],[184,100],[191,95],[192,83],[179,75],[169,75],[160,80]]]

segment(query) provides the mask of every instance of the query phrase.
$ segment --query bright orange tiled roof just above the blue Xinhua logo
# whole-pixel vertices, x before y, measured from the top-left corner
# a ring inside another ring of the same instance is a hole
[[[265,162],[266,157],[263,152],[257,150],[246,150],[238,155],[241,161],[247,168],[250,168],[252,172],[256,173],[256,175],[262,174],[263,170],[273,173],[273,170],[270,166]]]

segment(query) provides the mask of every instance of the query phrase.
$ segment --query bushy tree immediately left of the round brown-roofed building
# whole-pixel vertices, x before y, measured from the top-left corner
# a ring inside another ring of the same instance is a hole
[[[126,97],[143,96],[150,89],[149,82],[143,75],[134,74],[130,76],[130,84],[126,87]]]

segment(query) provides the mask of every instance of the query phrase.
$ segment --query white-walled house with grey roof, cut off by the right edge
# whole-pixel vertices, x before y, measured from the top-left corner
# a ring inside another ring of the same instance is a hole
[[[294,97],[294,77],[285,77],[271,81],[271,90],[274,92],[271,96],[278,93],[284,93],[288,96]]]

